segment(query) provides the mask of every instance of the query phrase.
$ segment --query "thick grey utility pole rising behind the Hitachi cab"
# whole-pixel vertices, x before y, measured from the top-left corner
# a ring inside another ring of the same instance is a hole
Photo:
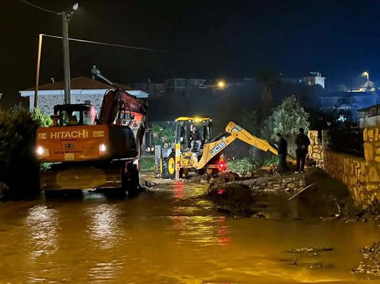
[[[70,54],[69,54],[69,29],[68,22],[70,16],[67,12],[62,12],[62,43],[63,43],[63,75],[65,84],[65,104],[71,103],[71,82],[70,82]]]

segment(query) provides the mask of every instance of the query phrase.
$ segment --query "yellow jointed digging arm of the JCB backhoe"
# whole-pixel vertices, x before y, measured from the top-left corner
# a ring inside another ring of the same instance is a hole
[[[229,122],[226,126],[226,135],[223,135],[220,139],[213,141],[211,143],[206,143],[203,146],[203,155],[199,162],[196,164],[197,169],[203,168],[209,160],[211,160],[215,155],[222,152],[229,144],[231,144],[236,139],[244,141],[245,143],[252,145],[264,152],[271,152],[274,155],[277,154],[277,150],[273,148],[268,141],[257,138],[256,136],[250,134],[244,128],[238,126],[233,122]]]

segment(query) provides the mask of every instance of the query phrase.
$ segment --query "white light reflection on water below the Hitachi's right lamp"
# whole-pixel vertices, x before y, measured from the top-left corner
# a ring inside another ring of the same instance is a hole
[[[117,246],[125,239],[119,224],[120,210],[115,204],[100,204],[86,210],[87,234],[102,249]]]

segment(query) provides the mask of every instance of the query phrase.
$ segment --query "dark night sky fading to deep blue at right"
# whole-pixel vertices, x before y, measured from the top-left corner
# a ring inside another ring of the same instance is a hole
[[[69,0],[30,0],[65,10]],[[78,0],[73,38],[167,50],[148,52],[70,43],[71,76],[96,64],[120,83],[173,75],[253,76],[263,67],[289,75],[321,71],[330,86],[351,84],[364,70],[379,76],[378,0]],[[61,18],[21,0],[2,0],[2,103],[34,86],[38,34],[61,35]],[[40,84],[63,79],[62,44],[44,38]],[[375,80],[376,81],[376,80]]]

